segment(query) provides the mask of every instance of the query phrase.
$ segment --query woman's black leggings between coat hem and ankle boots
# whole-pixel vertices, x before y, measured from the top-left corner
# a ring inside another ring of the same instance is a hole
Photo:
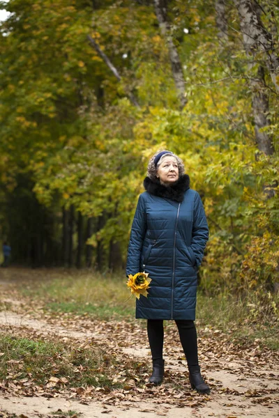
[[[188,367],[195,369],[199,367],[197,359],[197,331],[193,320],[176,320],[179,329],[180,341],[186,355]],[[164,326],[163,320],[148,319],[147,334],[151,348],[152,359],[163,359]]]

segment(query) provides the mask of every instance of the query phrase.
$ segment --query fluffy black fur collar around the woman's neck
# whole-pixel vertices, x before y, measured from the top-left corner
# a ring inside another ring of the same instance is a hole
[[[164,186],[160,184],[160,181],[151,180],[151,178],[144,178],[144,188],[146,192],[154,194],[154,196],[163,197],[176,202],[183,202],[184,193],[190,187],[190,178],[188,174],[183,174],[172,186]]]

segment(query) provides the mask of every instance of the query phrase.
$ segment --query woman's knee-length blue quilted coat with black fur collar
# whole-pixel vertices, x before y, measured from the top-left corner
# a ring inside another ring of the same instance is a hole
[[[181,176],[172,187],[146,177],[128,247],[126,274],[149,272],[136,318],[195,320],[197,270],[209,237],[202,200]]]

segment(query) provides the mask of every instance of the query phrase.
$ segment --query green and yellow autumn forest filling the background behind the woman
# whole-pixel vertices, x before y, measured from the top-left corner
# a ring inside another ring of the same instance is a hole
[[[10,0],[0,24],[0,233],[12,262],[119,271],[149,157],[185,162],[207,294],[279,282],[279,8]],[[125,277],[125,275],[123,275]]]

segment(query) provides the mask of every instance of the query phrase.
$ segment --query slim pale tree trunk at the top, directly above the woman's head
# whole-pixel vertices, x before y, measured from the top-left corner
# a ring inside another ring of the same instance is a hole
[[[183,75],[183,69],[177,52],[176,46],[172,40],[171,33],[169,31],[169,23],[167,22],[167,0],[154,0],[155,12],[160,27],[160,32],[167,42],[169,49],[169,59],[172,64],[172,75],[174,77],[174,83],[176,91],[181,104],[181,109],[185,107],[187,103],[185,95],[185,78]]]

